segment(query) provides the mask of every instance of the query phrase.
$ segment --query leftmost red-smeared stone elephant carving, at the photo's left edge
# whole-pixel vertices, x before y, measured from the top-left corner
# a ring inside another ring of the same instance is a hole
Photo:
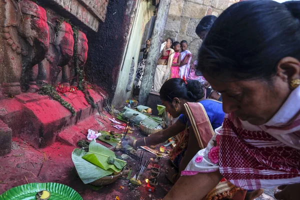
[[[30,0],[0,1],[0,83],[10,95],[35,82],[32,67],[41,61],[49,46],[46,12]]]

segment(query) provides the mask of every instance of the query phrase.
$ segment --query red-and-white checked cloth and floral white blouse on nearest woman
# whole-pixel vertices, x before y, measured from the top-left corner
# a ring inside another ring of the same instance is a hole
[[[300,86],[264,125],[228,114],[215,132],[182,175],[219,170],[244,189],[300,182]]]

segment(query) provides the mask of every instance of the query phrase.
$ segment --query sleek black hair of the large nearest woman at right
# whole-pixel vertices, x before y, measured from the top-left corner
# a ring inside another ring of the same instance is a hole
[[[224,81],[269,80],[280,59],[300,60],[300,1],[245,0],[215,20],[197,68]]]

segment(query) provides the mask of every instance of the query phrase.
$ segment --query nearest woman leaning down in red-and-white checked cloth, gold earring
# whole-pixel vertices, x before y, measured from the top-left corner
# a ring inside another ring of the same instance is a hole
[[[277,199],[299,199],[299,13],[299,1],[249,0],[215,20],[197,67],[228,114],[164,199],[201,199],[222,177],[243,189],[284,185]]]

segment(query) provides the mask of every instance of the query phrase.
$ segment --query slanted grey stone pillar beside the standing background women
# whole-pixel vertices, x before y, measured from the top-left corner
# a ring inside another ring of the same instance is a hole
[[[162,41],[163,31],[168,15],[171,0],[161,0],[151,36],[147,61],[144,69],[143,78],[140,85],[138,101],[139,104],[146,104],[149,92],[151,91],[156,64],[159,56],[159,49]]]

